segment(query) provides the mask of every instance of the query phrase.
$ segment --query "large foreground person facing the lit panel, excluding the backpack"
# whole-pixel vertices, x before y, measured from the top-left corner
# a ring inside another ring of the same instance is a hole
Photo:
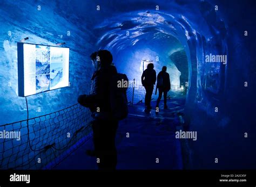
[[[99,159],[99,169],[116,169],[117,150],[115,146],[118,120],[111,113],[111,81],[117,75],[116,67],[112,66],[112,54],[100,50],[91,54],[96,71],[91,78],[90,95],[80,95],[78,103],[89,107],[92,112],[91,121],[95,156]]]

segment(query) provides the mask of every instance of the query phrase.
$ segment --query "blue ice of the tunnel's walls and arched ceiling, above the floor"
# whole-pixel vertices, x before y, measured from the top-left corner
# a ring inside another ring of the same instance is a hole
[[[156,56],[157,71],[167,63],[173,81],[179,80],[168,56],[184,49],[189,72],[185,121],[200,136],[192,146],[194,168],[255,168],[253,3],[113,0],[100,1],[98,11],[95,1],[1,1],[1,124],[26,119],[17,81],[17,42],[25,37],[35,44],[66,42],[70,47],[71,87],[30,96],[30,117],[63,109],[88,93],[89,55],[99,48],[109,49],[117,69],[138,81],[141,60],[156,61]],[[210,53],[227,55],[227,64],[206,63]],[[215,157],[221,164],[213,163]]]

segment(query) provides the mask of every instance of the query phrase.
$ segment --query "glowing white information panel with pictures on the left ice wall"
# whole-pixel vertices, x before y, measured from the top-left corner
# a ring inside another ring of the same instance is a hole
[[[69,48],[18,42],[20,97],[69,86]]]

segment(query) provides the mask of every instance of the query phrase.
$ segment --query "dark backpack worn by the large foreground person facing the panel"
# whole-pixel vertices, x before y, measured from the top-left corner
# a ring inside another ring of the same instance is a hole
[[[123,84],[125,82],[127,84]],[[128,102],[126,96],[128,84],[129,80],[125,74],[118,73],[113,77],[111,89],[111,109],[114,119],[122,120],[128,115]]]

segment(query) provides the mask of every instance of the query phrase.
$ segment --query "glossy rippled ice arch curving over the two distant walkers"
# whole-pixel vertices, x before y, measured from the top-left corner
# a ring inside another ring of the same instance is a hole
[[[186,96],[186,120],[190,123],[190,111],[196,103],[212,107],[205,91],[216,97],[223,95],[225,86],[225,68],[220,63],[206,63],[207,54],[227,54],[225,41],[226,27],[223,20],[217,18],[214,6],[207,2],[200,4],[201,17],[207,27],[200,29],[179,13],[164,11],[133,11],[113,16],[95,27],[99,33],[98,48],[109,49],[113,54],[138,44],[140,40],[156,39],[156,34],[177,38],[187,56],[188,84]],[[212,21],[212,20],[215,21]],[[200,27],[201,28],[201,27]],[[118,66],[118,64],[117,64]],[[206,69],[206,70],[205,70]],[[206,72],[207,71],[207,72]],[[218,96],[217,96],[218,95]],[[207,104],[206,104],[207,103]]]

